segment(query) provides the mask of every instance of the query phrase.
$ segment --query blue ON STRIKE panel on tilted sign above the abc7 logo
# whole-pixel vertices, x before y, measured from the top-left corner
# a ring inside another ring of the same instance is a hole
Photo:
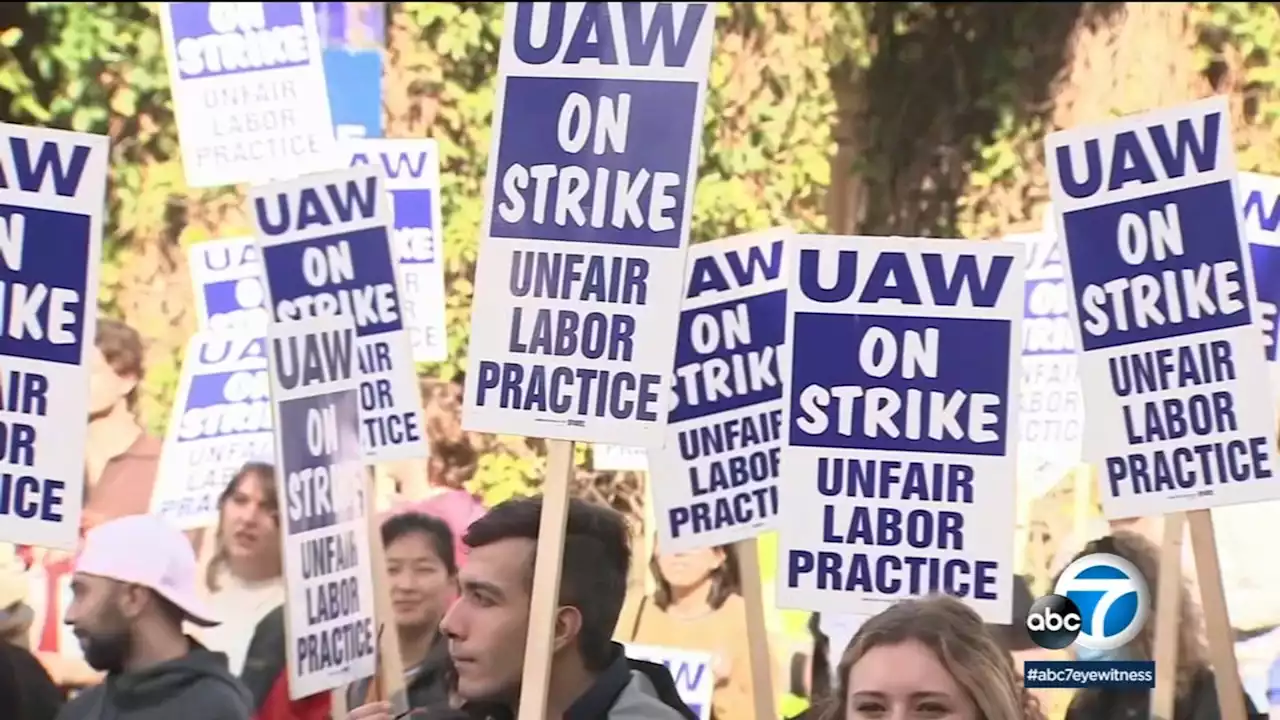
[[[1083,348],[1248,325],[1235,220],[1230,181],[1065,213]],[[1121,242],[1146,260],[1126,263]]]

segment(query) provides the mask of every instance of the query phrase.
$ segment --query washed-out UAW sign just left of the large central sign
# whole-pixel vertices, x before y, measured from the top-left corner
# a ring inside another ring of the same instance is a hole
[[[440,158],[435,141],[348,140],[347,165],[378,165],[390,191],[396,232],[392,260],[399,270],[404,327],[416,363],[449,356],[444,320],[444,222],[440,215]]]

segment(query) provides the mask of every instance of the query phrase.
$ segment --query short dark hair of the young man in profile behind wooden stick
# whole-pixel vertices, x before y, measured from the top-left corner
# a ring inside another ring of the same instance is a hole
[[[538,541],[543,497],[518,497],[497,505],[471,524],[462,542],[476,548],[509,538]],[[559,603],[582,615],[577,648],[588,670],[604,670],[613,660],[613,629],[622,614],[631,569],[631,533],[618,511],[570,498],[564,528],[564,560]],[[534,587],[534,564],[526,578]]]

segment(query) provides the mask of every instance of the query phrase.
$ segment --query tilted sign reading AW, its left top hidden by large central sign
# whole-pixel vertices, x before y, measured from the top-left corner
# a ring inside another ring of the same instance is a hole
[[[788,228],[689,249],[667,442],[649,451],[663,552],[772,530],[782,461]]]

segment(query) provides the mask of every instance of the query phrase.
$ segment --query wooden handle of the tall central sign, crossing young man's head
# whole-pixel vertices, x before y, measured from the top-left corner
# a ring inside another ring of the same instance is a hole
[[[520,720],[544,720],[547,715],[572,473],[573,442],[547,441],[547,480],[543,483],[543,512],[538,524],[534,592],[529,606],[529,635],[525,641],[525,670],[520,682],[517,715]]]

